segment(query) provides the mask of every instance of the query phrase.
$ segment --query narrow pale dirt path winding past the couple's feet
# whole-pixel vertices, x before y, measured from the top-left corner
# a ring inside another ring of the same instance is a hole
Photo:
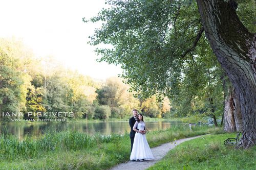
[[[178,145],[184,141],[195,139],[198,137],[201,137],[201,136],[195,136],[195,137],[189,137],[189,138],[185,138],[185,139],[176,140],[176,145]],[[118,165],[114,166],[113,168],[111,168],[111,170],[116,170],[116,169],[142,170],[142,169],[146,169],[146,168],[154,165],[160,159],[162,159],[166,155],[166,153],[173,148],[175,148],[175,145],[173,142],[164,143],[164,144],[160,145],[159,147],[151,149],[153,156],[155,158],[154,161],[141,161],[141,162],[140,161],[136,161],[136,162],[129,161],[126,163],[118,164]]]

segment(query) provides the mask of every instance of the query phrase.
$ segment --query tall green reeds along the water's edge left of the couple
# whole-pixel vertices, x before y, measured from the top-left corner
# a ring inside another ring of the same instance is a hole
[[[26,136],[23,140],[19,140],[13,135],[1,135],[0,158],[8,159],[9,161],[14,160],[16,157],[29,159],[41,153],[52,151],[89,149],[100,143],[114,142],[122,138],[122,135],[116,134],[111,136],[90,136],[72,131],[47,133],[39,139]]]

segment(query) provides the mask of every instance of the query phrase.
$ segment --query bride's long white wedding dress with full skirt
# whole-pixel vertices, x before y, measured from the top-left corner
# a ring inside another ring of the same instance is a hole
[[[140,122],[134,124],[134,128],[138,130],[144,130],[145,123]],[[153,160],[153,154],[150,150],[150,146],[147,143],[146,135],[136,132],[133,143],[133,150],[130,156],[130,160]]]

